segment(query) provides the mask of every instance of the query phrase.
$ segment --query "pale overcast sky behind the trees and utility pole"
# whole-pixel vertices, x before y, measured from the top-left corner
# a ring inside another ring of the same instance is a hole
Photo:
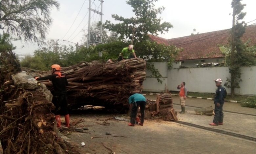
[[[91,1],[91,8],[100,11],[100,1]],[[125,18],[134,16],[132,7],[127,5],[126,1],[104,0],[102,7],[103,22],[110,20],[116,23],[111,14],[117,14]],[[75,46],[77,42],[81,44],[83,34],[88,30],[89,0],[58,0],[58,2],[60,9],[53,9],[49,12],[53,18],[53,24],[49,27],[46,41],[54,39],[59,40],[58,43],[61,45],[70,44],[72,46]],[[246,4],[243,11],[247,12],[243,21],[250,22],[255,20],[256,1],[243,0],[242,4]],[[173,28],[167,33],[159,34],[160,37],[166,39],[190,35],[193,29],[196,29],[195,33],[205,33],[232,27],[233,10],[231,8],[231,0],[159,0],[155,5],[156,8],[165,7],[159,17],[162,18],[162,21],[170,22],[173,25]],[[91,23],[97,21],[100,21],[100,15],[91,11]],[[248,23],[248,25],[255,22],[256,20]],[[73,43],[63,41],[63,39]],[[20,58],[25,55],[32,55],[33,51],[38,48],[37,45],[19,40],[12,41],[12,44],[16,46],[14,52]]]

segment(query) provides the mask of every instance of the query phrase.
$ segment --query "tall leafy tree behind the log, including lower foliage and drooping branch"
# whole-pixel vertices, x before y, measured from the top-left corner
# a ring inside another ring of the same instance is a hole
[[[130,18],[124,18],[117,14],[112,14],[112,17],[119,23],[113,24],[110,21],[106,21],[103,27],[119,34],[120,40],[135,45],[134,48],[137,57],[147,60],[147,69],[161,82],[161,74],[155,69],[151,62],[167,61],[168,66],[171,67],[174,56],[177,55],[180,49],[174,46],[166,46],[148,41],[147,34],[158,35],[158,33],[162,34],[173,28],[171,23],[162,22],[162,18],[159,17],[164,7],[156,9],[154,2],[157,1],[158,0],[128,0],[127,4],[133,8],[135,15]],[[119,49],[119,53],[121,49],[122,48]]]

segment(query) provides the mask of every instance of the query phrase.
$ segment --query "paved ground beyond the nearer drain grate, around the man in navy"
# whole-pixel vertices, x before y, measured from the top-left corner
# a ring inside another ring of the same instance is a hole
[[[146,98],[154,99],[156,98],[156,95],[149,95],[146,96]],[[173,96],[173,103],[179,103],[178,96]],[[209,107],[213,106],[213,101],[188,98],[186,100],[186,105]],[[256,138],[256,116],[224,112],[224,125],[210,126],[209,123],[213,121],[213,116],[196,115],[194,112],[195,107],[189,106],[186,106],[186,114],[178,114],[177,117],[179,118],[180,121],[230,131]],[[174,105],[174,109],[179,111],[180,105]],[[242,112],[256,115],[255,108],[241,107],[240,104],[237,103],[225,102],[223,109],[227,111]]]

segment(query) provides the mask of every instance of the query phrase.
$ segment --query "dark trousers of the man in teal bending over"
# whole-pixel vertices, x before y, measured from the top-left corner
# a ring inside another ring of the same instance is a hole
[[[137,104],[137,106],[136,106]],[[135,120],[136,120],[136,116],[137,116],[137,110],[138,110],[138,106],[140,107],[140,123],[143,124],[144,123],[144,111],[145,111],[145,106],[146,106],[146,102],[145,101],[138,101],[138,102],[134,102],[132,109],[131,109],[131,123],[134,125],[135,124]]]

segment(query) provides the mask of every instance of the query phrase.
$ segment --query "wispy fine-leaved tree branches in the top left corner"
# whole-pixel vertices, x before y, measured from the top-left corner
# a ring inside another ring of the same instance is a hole
[[[26,42],[43,43],[52,24],[50,10],[59,9],[56,0],[1,0],[0,28]]]

